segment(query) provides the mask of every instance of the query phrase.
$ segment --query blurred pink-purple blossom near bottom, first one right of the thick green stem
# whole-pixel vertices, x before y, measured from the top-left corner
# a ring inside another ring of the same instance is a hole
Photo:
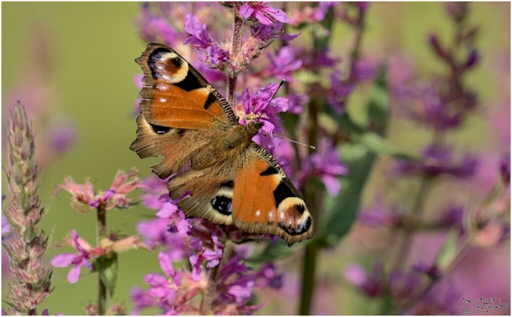
[[[376,264],[373,267],[372,274],[366,273],[365,269],[357,264],[349,264],[345,268],[345,278],[361,292],[369,297],[377,297],[383,291],[383,285],[380,279],[382,266]]]

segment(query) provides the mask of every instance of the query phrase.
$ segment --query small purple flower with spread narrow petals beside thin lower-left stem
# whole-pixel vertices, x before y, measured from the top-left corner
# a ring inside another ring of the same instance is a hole
[[[75,248],[78,251],[78,255],[74,253],[63,253],[53,257],[50,262],[54,267],[67,267],[73,265],[68,274],[68,282],[74,284],[78,282],[80,276],[80,269],[85,266],[87,269],[92,269],[92,264],[89,261],[89,253],[78,243],[78,233],[73,229],[72,232],[73,241]]]

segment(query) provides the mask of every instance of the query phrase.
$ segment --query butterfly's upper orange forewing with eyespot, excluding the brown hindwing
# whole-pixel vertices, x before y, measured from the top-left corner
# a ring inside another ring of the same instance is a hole
[[[232,125],[230,115],[221,109],[222,97],[178,53],[148,44],[136,61],[144,71],[140,108],[147,122],[203,130]]]

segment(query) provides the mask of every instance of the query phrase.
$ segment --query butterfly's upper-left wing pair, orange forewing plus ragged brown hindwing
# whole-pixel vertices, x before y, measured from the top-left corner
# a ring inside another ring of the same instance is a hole
[[[150,43],[136,62],[144,85],[137,139],[130,148],[142,159],[163,155],[153,172],[165,178],[238,119],[219,92],[173,49]]]

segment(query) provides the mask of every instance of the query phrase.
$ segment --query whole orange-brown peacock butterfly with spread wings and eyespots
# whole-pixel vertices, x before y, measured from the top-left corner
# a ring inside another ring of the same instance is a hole
[[[251,141],[262,122],[238,124],[226,100],[174,50],[148,44],[137,139],[141,158],[162,155],[153,172],[169,180],[187,217],[272,234],[288,244],[313,235],[313,219],[283,169]],[[188,169],[187,169],[188,167]]]

